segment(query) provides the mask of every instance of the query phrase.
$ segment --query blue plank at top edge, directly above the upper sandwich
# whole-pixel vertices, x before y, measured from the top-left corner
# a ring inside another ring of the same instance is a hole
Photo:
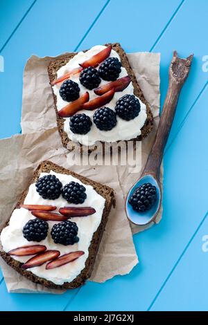
[[[181,2],[111,0],[80,49],[119,41],[126,52],[148,51]]]

